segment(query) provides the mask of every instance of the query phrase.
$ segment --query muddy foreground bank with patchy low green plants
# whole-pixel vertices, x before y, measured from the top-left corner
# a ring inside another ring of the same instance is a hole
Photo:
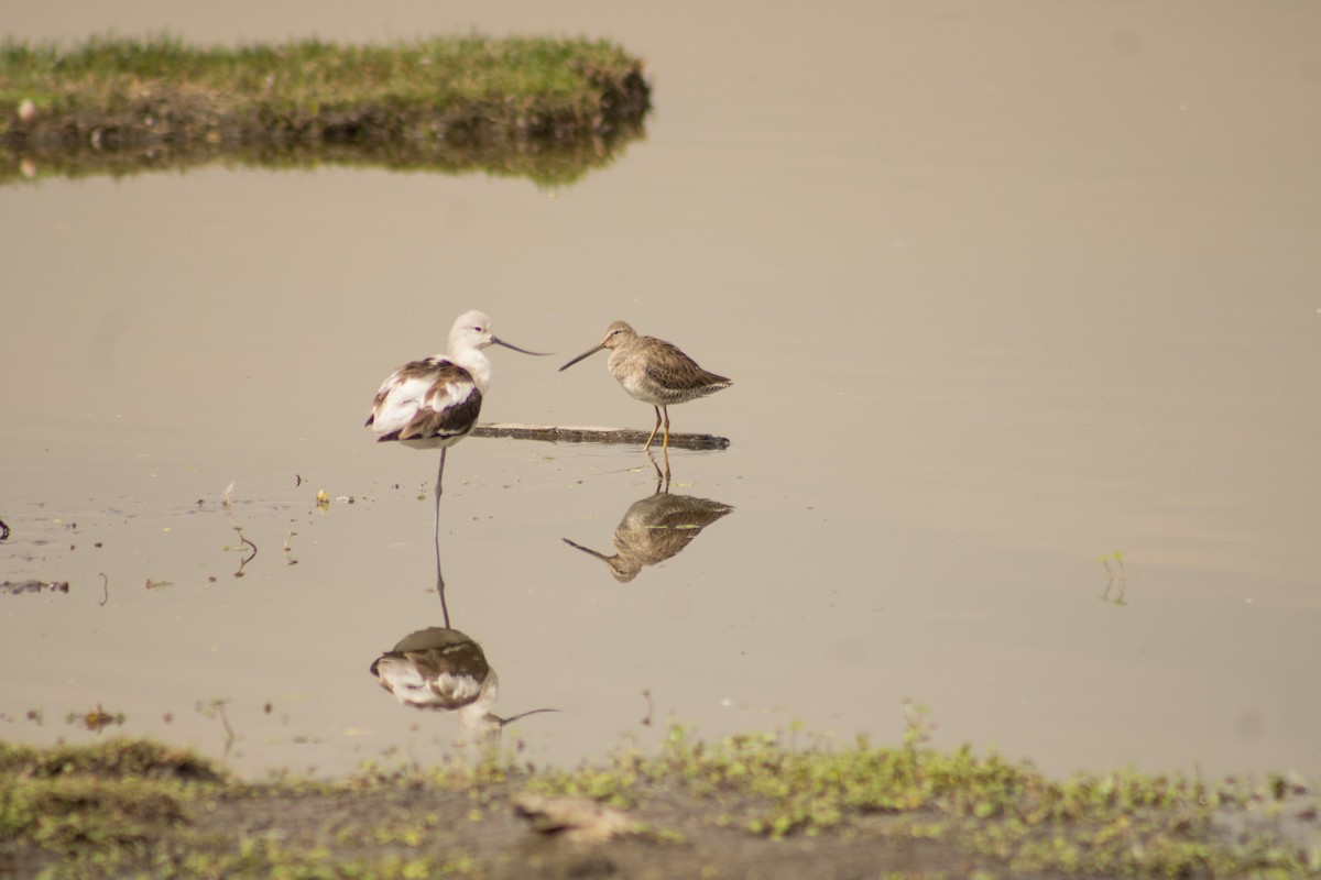
[[[573,772],[485,759],[244,782],[141,740],[0,744],[0,875],[1321,876],[1317,800],[966,749],[798,752],[771,735]]]

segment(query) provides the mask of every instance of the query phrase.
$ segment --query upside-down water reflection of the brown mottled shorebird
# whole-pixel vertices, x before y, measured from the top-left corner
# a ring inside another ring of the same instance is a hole
[[[692,495],[671,495],[657,488],[641,501],[629,505],[614,529],[614,555],[597,553],[564,538],[564,544],[593,555],[610,567],[621,583],[638,577],[645,566],[664,562],[701,534],[701,530],[733,511],[728,504]]]

